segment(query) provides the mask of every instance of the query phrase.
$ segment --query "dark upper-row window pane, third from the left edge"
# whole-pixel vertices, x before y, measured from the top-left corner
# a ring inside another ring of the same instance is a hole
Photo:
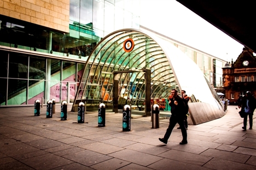
[[[30,57],[30,68],[28,71],[28,77],[30,79],[45,80],[45,67],[45,58]]]

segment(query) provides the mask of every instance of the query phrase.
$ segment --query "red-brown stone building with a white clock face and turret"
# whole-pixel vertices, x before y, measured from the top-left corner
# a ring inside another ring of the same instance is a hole
[[[256,96],[256,58],[252,50],[244,47],[236,61],[227,62],[222,69],[225,98],[230,104],[237,104],[237,99],[247,91]]]

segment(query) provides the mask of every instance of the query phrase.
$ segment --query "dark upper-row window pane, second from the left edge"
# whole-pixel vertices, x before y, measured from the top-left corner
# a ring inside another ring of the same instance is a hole
[[[27,78],[28,57],[25,54],[10,53],[9,77]]]

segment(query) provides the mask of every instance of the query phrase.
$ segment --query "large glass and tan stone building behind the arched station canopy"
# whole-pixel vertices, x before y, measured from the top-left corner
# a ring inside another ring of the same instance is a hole
[[[1,106],[73,102],[96,44],[115,29],[139,28],[139,1],[0,4]]]

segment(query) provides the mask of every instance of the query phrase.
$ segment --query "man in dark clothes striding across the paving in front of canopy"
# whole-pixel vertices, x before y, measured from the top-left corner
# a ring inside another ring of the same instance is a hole
[[[159,138],[159,141],[167,144],[168,138],[171,136],[172,130],[174,126],[178,123],[179,126],[181,127],[182,131],[182,142],[179,144],[187,144],[187,130],[185,129],[184,126],[184,117],[186,116],[186,108],[185,104],[180,96],[178,96],[177,90],[172,89],[171,91],[171,96],[169,100],[169,105],[171,106],[171,118],[170,118],[170,123],[168,126],[168,129],[166,130],[164,138]]]

